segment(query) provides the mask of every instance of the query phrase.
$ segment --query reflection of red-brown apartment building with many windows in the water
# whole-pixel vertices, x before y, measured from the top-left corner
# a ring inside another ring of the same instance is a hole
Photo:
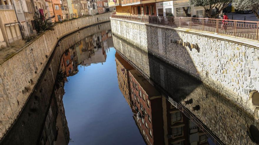
[[[163,91],[153,86],[139,71],[123,59],[121,54],[117,52],[115,57],[119,89],[132,109],[133,119],[146,144],[209,144],[210,139],[207,135],[173,103],[168,101]],[[129,93],[125,89],[127,84],[129,84]],[[210,145],[212,144],[214,143],[210,141]]]

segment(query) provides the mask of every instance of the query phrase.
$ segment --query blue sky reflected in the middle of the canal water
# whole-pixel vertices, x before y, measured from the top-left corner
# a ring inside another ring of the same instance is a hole
[[[69,144],[145,144],[132,111],[118,88],[115,49],[106,62],[78,66],[69,76],[63,97]]]

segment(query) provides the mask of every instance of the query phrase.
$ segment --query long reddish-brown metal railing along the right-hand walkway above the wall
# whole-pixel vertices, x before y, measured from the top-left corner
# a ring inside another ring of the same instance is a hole
[[[163,17],[163,16],[140,16],[140,15],[116,15],[112,18],[138,21],[157,25],[166,25],[171,27],[189,28],[195,30],[220,33],[225,35],[243,37],[253,40],[259,40],[259,22],[240,21],[208,18],[185,18],[185,17]]]

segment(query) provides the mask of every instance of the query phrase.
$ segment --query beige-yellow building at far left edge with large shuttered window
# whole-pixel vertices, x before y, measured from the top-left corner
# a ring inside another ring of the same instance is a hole
[[[0,46],[22,39],[19,23],[11,1],[0,1]]]

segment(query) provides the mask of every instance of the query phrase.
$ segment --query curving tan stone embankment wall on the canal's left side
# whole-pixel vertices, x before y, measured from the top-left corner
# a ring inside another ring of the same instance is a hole
[[[109,21],[109,17],[110,13],[104,13],[60,23],[54,31],[40,35],[0,65],[0,140],[19,115],[59,39],[80,28]],[[85,36],[85,33],[81,35]]]

